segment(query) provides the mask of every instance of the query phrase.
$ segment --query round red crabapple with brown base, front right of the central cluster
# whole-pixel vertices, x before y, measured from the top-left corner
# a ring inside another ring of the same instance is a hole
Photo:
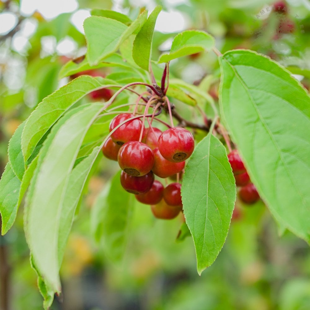
[[[182,127],[169,128],[158,138],[158,149],[170,162],[183,162],[192,155],[194,146],[193,135]]]

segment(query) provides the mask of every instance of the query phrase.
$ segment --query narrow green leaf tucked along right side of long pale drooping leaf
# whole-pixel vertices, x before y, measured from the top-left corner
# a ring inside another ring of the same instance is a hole
[[[72,170],[68,187],[64,196],[64,202],[60,214],[59,236],[58,236],[58,259],[59,265],[64,256],[65,246],[68,241],[69,233],[73,224],[73,218],[79,199],[82,194],[86,179],[91,171],[96,157],[100,153],[100,147],[93,149],[92,153],[78,163]]]

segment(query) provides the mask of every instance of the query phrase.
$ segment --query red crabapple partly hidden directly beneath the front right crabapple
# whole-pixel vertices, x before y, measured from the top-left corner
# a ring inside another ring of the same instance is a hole
[[[170,162],[162,157],[158,148],[153,150],[154,153],[154,165],[152,171],[160,178],[168,178],[184,169],[185,162]]]

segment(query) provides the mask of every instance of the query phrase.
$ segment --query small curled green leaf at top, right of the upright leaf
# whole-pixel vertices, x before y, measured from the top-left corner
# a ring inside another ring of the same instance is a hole
[[[210,34],[198,30],[186,30],[175,36],[170,53],[161,55],[158,62],[168,62],[204,50],[209,51],[214,44],[214,38]]]

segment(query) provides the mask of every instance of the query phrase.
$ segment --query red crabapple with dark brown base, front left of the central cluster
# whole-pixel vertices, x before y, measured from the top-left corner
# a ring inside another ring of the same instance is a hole
[[[121,146],[117,161],[126,173],[142,176],[151,171],[154,164],[154,153],[145,143],[129,141]]]

